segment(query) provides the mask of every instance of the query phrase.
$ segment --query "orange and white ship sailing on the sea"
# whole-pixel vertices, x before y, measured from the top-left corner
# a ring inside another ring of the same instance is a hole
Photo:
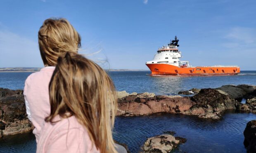
[[[214,65],[193,67],[189,61],[181,61],[181,51],[178,49],[179,39],[171,41],[167,46],[159,47],[154,59],[146,62],[151,75],[235,75],[240,73],[237,65]]]

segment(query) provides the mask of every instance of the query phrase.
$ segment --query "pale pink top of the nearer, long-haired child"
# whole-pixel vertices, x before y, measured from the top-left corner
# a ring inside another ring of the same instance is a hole
[[[61,118],[57,116],[54,121]],[[57,123],[46,122],[41,130],[37,153],[100,153],[88,135],[87,130],[74,116]]]

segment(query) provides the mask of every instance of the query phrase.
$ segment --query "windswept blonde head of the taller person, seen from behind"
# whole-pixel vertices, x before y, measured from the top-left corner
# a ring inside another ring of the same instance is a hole
[[[40,54],[45,66],[55,66],[59,56],[77,53],[81,37],[66,19],[46,19],[38,32]]]

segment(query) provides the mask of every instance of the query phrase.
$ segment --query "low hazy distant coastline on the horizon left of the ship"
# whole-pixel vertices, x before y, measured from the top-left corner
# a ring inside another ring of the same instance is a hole
[[[41,67],[1,67],[0,72],[37,72]],[[125,71],[149,71],[149,70],[130,70],[130,69],[105,69],[108,72],[125,72]]]

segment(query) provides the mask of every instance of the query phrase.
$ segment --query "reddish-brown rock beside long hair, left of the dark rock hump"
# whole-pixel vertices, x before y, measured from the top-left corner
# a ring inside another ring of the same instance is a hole
[[[184,113],[194,103],[187,97],[154,96],[149,98],[129,95],[118,100],[117,115],[139,116],[159,112]]]

